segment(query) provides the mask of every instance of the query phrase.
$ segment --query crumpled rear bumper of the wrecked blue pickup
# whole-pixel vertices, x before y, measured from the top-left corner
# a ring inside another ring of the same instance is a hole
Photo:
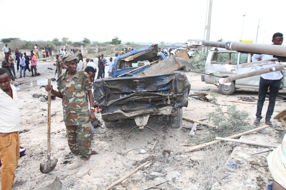
[[[145,110],[136,110],[128,113],[123,112],[122,110],[117,110],[112,113],[101,114],[101,116],[102,120],[104,120],[105,122],[114,122],[117,120],[127,120],[144,114],[150,114],[150,116],[166,115],[175,117],[178,115],[178,109],[172,106],[166,106],[162,108],[149,108]]]

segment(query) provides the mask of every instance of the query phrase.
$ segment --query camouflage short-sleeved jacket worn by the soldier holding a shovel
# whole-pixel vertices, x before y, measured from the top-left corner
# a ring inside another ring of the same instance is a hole
[[[69,80],[67,71],[57,79],[57,90],[63,95],[63,120],[66,126],[81,125],[89,122],[90,110],[86,91],[92,90],[92,83],[84,71],[76,71]]]

